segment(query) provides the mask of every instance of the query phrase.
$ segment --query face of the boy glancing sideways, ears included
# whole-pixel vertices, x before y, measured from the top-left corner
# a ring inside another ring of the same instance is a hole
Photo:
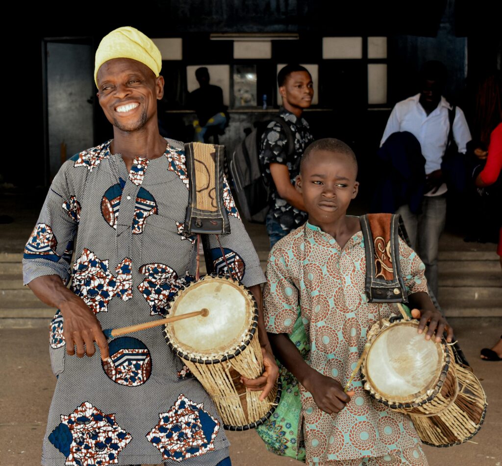
[[[296,178],[309,221],[322,225],[345,216],[357,195],[356,167],[348,155],[329,151],[312,152]]]

